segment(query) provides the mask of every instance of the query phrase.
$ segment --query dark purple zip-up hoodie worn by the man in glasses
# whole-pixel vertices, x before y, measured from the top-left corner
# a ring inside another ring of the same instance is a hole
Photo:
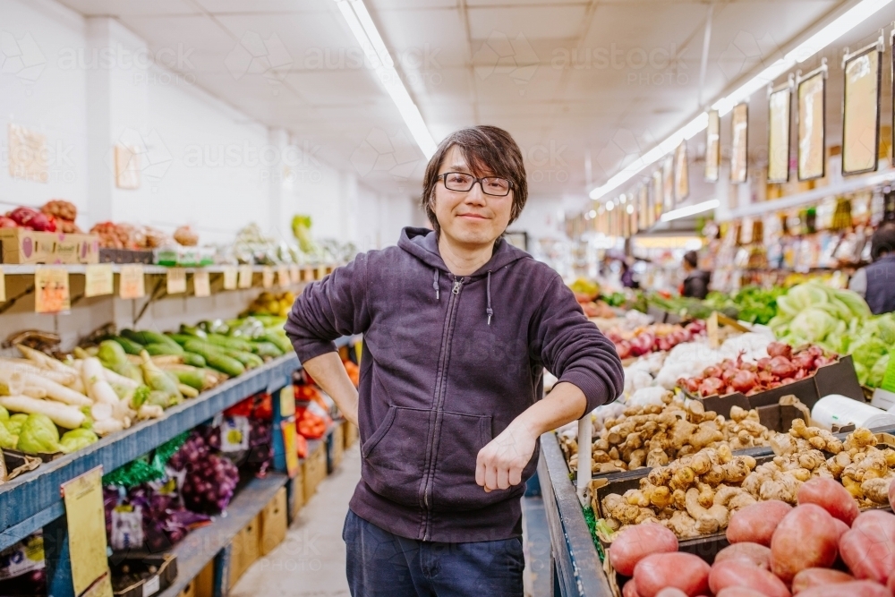
[[[301,361],[363,334],[362,473],[350,507],[391,533],[432,542],[522,534],[524,484],[486,493],[480,449],[543,394],[543,369],[581,388],[587,412],[621,394],[615,347],[547,265],[504,240],[454,277],[435,233],[358,255],[295,301],[286,332]],[[525,467],[534,473],[538,452]]]

